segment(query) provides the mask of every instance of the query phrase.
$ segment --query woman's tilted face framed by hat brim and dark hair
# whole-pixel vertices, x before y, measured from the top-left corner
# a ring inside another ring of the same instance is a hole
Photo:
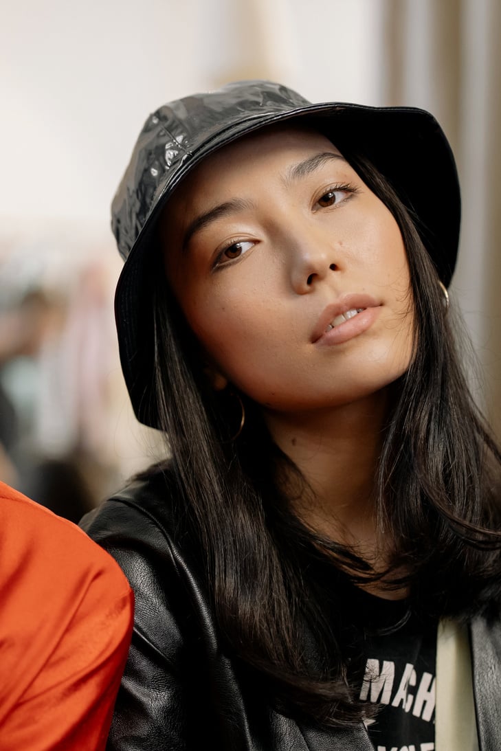
[[[215,388],[308,412],[367,397],[409,366],[397,222],[322,135],[273,128],[225,146],[177,189],[160,234]]]

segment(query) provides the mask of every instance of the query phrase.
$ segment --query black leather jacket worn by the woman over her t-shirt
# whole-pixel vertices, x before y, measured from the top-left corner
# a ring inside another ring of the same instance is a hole
[[[131,650],[108,749],[373,751],[364,725],[321,729],[267,705],[225,654],[193,567],[174,541],[158,480],[135,481],[81,526],[122,566],[135,593]],[[480,751],[501,751],[501,628],[470,626]],[[454,751],[454,749],[439,749]]]

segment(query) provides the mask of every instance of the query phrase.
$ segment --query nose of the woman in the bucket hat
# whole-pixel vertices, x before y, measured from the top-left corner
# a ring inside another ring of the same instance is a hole
[[[291,284],[297,294],[308,294],[325,279],[338,264],[332,243],[325,237],[307,237],[294,243],[291,249]]]

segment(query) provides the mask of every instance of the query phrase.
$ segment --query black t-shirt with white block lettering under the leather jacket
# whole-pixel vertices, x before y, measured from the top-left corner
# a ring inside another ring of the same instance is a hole
[[[364,621],[359,698],[379,704],[367,731],[376,751],[434,751],[436,621],[409,615],[405,600],[352,587],[355,620]]]

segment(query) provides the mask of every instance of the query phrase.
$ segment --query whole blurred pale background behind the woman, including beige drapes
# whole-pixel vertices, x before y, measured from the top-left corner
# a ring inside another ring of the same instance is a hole
[[[119,369],[109,205],[146,116],[229,80],[431,110],[463,188],[451,297],[501,436],[499,0],[5,0],[0,478],[78,519],[164,451]],[[430,173],[430,192],[448,196]]]

